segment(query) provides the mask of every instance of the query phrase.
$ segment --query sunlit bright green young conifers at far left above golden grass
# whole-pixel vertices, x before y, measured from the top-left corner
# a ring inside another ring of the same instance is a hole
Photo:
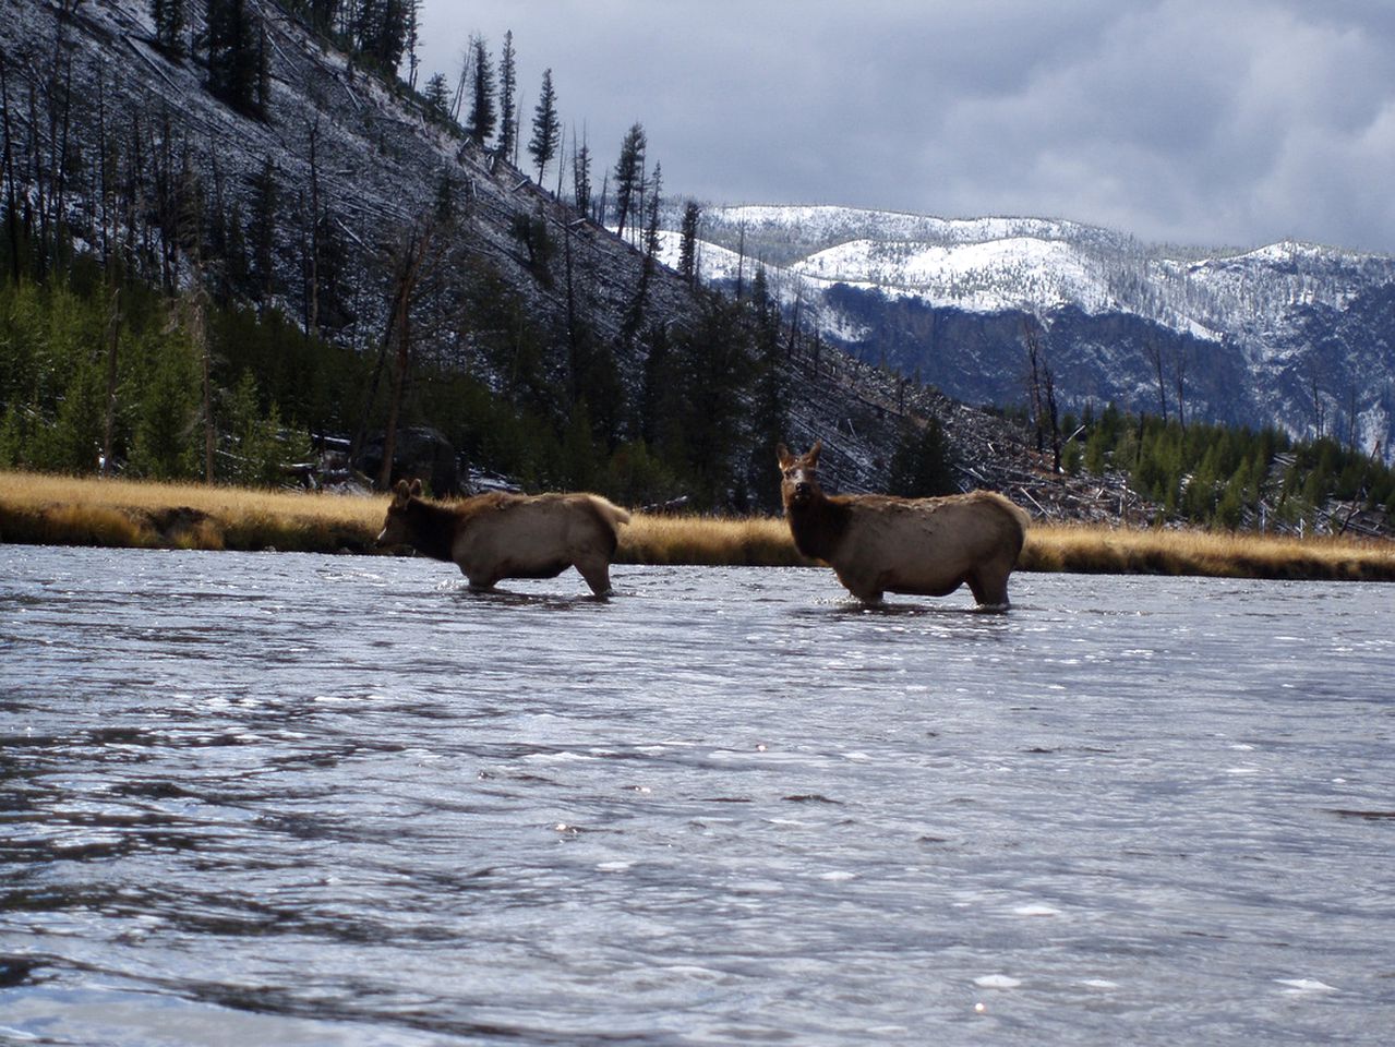
[[[304,420],[332,420],[353,381],[333,356],[279,314],[199,316],[141,280],[113,284],[91,257],[43,283],[6,279],[0,467],[285,482],[311,454]]]

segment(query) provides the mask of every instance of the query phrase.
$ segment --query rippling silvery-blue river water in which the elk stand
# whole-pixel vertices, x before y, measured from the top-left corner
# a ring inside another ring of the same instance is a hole
[[[1375,1044],[1395,587],[0,547],[0,1041]]]

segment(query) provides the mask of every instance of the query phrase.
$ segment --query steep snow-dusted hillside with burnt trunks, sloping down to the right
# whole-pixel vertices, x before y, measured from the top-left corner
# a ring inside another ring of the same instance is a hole
[[[780,435],[805,446],[823,439],[834,487],[883,487],[904,427],[930,414],[951,427],[964,459],[975,463],[964,484],[1045,482],[1017,427],[929,390],[907,390],[836,349],[810,349],[795,333],[778,335],[780,347],[771,344],[763,365],[751,360],[749,344],[724,364],[716,343],[732,322],[709,294],[667,266],[646,268],[633,244],[431,116],[405,85],[329,46],[299,15],[276,4],[255,10],[268,43],[265,119],[213,96],[206,54],[197,47],[174,56],[162,50],[140,0],[8,3],[0,46],[10,102],[6,141],[14,156],[7,188],[18,199],[10,213],[22,215],[31,241],[45,234],[45,222],[64,227],[78,251],[107,259],[109,268],[144,273],[184,296],[206,283],[234,307],[247,301],[259,315],[278,311],[354,353],[361,364],[338,365],[356,375],[342,385],[368,383],[368,413],[357,403],[363,392],[340,390],[317,417],[293,418],[312,432],[347,439],[364,425],[381,427],[386,393],[379,389],[392,379],[392,357],[400,353],[406,361],[410,353],[399,425],[444,432],[473,467],[509,471],[531,461],[536,482],[585,482],[585,471],[547,473],[536,464],[538,456],[565,453],[579,399],[590,390],[593,424],[611,427],[597,441],[608,441],[614,459],[614,448],[624,452],[640,428],[635,417],[653,396],[646,383],[664,381],[649,374],[660,353],[686,351],[693,358],[684,358],[685,367],[709,374],[668,381],[686,382],[693,399],[713,397],[692,407],[698,415],[689,428],[710,421],[718,429],[713,454],[725,459],[699,503],[739,507],[753,496],[748,484],[766,492],[773,487],[764,456],[752,449],[755,388],[731,374],[762,367],[780,372]],[[190,40],[206,28],[201,18],[193,13]],[[96,145],[103,141],[106,153]],[[103,176],[107,163],[112,170]],[[278,202],[261,272],[252,241],[268,183]],[[449,222],[439,219],[444,204]],[[199,229],[190,233],[188,212],[195,209]],[[241,241],[251,262],[227,247]],[[412,269],[413,259],[420,269]],[[395,312],[403,286],[410,294],[406,349],[398,344],[406,325]],[[246,365],[264,397],[279,395],[282,407],[297,402],[303,382],[283,349],[247,360],[241,353],[236,339],[215,346],[211,365],[227,372],[229,386]],[[272,371],[286,371],[279,386],[271,385]],[[494,406],[467,417],[445,400],[445,390],[465,378],[487,390]],[[39,417],[59,411],[59,402],[21,408]],[[597,421],[607,411],[614,417]],[[523,446],[518,427],[540,424],[552,435],[529,436]],[[692,432],[678,434],[678,442],[685,436],[696,442]],[[696,452],[689,446],[686,453]],[[692,468],[707,471],[700,460]],[[691,494],[681,473],[670,475],[677,467],[660,471],[667,487],[650,485],[654,494]],[[643,498],[646,491],[640,484],[622,494]]]

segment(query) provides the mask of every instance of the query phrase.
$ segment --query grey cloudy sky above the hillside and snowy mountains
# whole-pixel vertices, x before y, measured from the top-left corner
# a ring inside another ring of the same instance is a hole
[[[506,29],[668,195],[1395,252],[1391,0],[424,0],[423,82]]]

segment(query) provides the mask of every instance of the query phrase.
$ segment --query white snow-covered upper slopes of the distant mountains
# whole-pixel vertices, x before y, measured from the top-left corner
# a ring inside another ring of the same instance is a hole
[[[738,205],[706,209],[702,227],[724,244],[700,244],[704,280],[735,279],[738,266],[749,275],[753,259],[777,257],[781,263],[766,262],[767,276],[790,300],[798,293],[791,289],[847,283],[974,312],[1070,304],[1247,346],[1272,340],[1296,307],[1343,308],[1364,289],[1395,280],[1395,259],[1380,255],[1290,240],[1246,252],[1162,248],[1059,219]],[[677,258],[674,234],[670,263]],[[1265,357],[1258,344],[1250,351]]]

